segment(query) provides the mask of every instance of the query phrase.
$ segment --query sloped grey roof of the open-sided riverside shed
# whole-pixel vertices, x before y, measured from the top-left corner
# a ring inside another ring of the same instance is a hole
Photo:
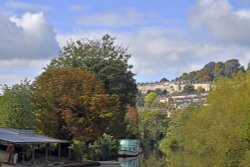
[[[38,135],[34,130],[0,128],[0,141],[16,144],[48,144],[68,143],[67,140],[54,139],[48,136]]]

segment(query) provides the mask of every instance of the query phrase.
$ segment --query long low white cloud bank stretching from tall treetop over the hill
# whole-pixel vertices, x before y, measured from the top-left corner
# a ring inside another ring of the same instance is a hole
[[[107,31],[94,32],[58,35],[57,39],[63,46],[69,39],[76,40],[83,37],[100,39],[107,33]],[[172,32],[153,27],[137,32],[110,32],[110,34],[117,37],[117,44],[128,46],[128,52],[132,54],[130,63],[134,65],[133,71],[140,78],[144,76],[149,81],[152,81],[152,78],[160,80],[163,76],[174,79],[184,72],[198,70],[211,61],[237,58],[246,65],[250,58],[247,47],[193,42],[188,40],[186,35],[181,38],[178,35],[173,36]]]

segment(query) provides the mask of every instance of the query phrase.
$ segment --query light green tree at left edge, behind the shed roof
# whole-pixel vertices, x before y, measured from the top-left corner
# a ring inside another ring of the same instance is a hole
[[[31,101],[30,82],[5,85],[0,98],[1,127],[34,129],[35,115]]]

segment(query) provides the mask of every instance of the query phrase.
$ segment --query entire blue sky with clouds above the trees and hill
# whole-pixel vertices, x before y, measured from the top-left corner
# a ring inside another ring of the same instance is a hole
[[[110,34],[137,82],[250,60],[250,0],[1,0],[0,85],[34,80],[67,41]]]

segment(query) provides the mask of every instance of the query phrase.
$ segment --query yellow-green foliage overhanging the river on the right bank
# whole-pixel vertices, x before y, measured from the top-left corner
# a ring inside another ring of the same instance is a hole
[[[250,73],[221,78],[214,89],[207,106],[174,113],[161,147],[209,156],[212,166],[244,166],[250,158]]]

